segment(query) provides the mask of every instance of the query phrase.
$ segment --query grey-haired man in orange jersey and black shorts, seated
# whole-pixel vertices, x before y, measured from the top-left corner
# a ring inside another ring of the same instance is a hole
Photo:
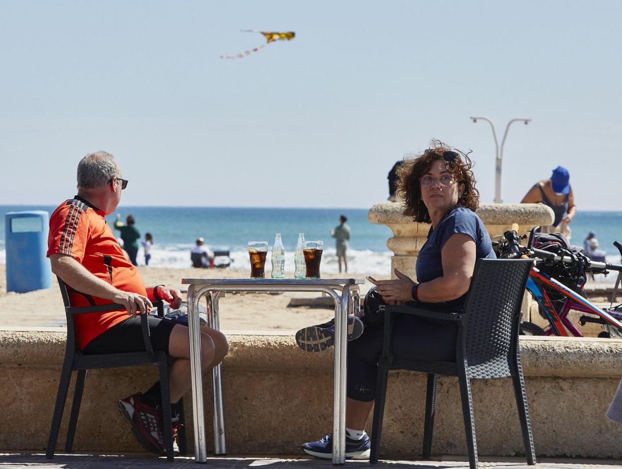
[[[50,217],[47,257],[52,272],[67,283],[72,306],[123,304],[117,311],[78,314],[75,319],[77,348],[84,353],[144,352],[141,318],[152,301],[163,299],[174,308],[182,304],[179,290],[164,285],[145,286],[137,268],[126,260],[119,242],[106,223],[121,201],[128,181],[113,155],[96,152],[78,163],[78,194],[64,201]],[[188,327],[169,319],[148,316],[151,344],[174,362],[169,368],[170,403],[162,403],[160,383],[144,393],[119,399],[121,416],[134,429],[139,444],[155,453],[164,451],[162,406],[171,406],[173,433],[179,426],[179,399],[190,390]],[[225,335],[201,327],[203,370],[223,360],[228,350]],[[116,429],[111,429],[115,431]]]

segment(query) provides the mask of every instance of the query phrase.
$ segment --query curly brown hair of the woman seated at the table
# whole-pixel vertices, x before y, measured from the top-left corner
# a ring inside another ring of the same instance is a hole
[[[443,156],[445,152],[455,152],[457,157],[448,161]],[[404,199],[404,215],[412,216],[415,222],[430,223],[430,214],[421,199],[419,178],[430,170],[432,163],[442,161],[447,163],[447,169],[456,178],[458,183],[465,184],[465,190],[458,199],[458,207],[466,207],[472,211],[480,206],[480,191],[475,188],[473,176],[473,162],[468,153],[457,148],[449,147],[440,140],[432,140],[430,148],[420,155],[406,155],[404,163],[397,170],[397,195]]]

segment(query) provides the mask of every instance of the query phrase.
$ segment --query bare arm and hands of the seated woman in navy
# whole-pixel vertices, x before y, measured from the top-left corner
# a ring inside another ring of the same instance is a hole
[[[455,233],[440,252],[443,276],[420,283],[417,298],[425,303],[441,303],[460,298],[468,291],[475,268],[475,241],[469,235]],[[384,301],[412,301],[414,281],[395,271],[396,280],[379,280],[378,291]]]

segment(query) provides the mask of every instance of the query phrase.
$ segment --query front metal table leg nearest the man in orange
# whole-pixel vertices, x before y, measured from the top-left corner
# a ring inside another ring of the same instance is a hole
[[[188,285],[188,334],[190,336],[190,378],[192,383],[192,414],[195,431],[195,462],[207,462],[205,447],[205,411],[203,410],[203,375],[201,366],[201,327],[195,286]]]

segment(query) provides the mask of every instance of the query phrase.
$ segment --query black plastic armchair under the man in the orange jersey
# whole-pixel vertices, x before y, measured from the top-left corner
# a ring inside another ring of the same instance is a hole
[[[57,277],[58,278],[58,277]],[[69,389],[69,382],[74,370],[78,371],[78,377],[76,380],[75,390],[73,391],[73,404],[72,412],[69,419],[69,428],[67,430],[67,442],[65,442],[65,452],[71,452],[73,447],[73,437],[75,435],[75,429],[78,422],[78,412],[80,412],[80,401],[82,399],[82,391],[84,389],[84,381],[86,378],[86,370],[95,368],[120,368],[120,367],[134,367],[136,365],[147,365],[153,363],[158,365],[160,371],[160,389],[162,391],[162,403],[170,402],[169,394],[169,365],[172,363],[172,358],[167,355],[166,352],[153,350],[151,347],[151,341],[149,340],[149,322],[147,322],[147,315],[141,314],[142,324],[142,338],[145,343],[144,352],[128,352],[128,353],[108,353],[105,355],[83,355],[80,350],[76,348],[75,343],[75,330],[73,327],[73,316],[75,314],[84,314],[88,312],[102,312],[102,311],[114,311],[124,306],[121,304],[104,304],[101,306],[85,306],[75,307],[71,306],[69,301],[69,295],[67,293],[67,285],[60,278],[58,278],[58,286],[60,286],[60,293],[63,296],[63,303],[65,303],[65,314],[67,314],[67,345],[65,347],[65,360],[63,360],[63,368],[60,373],[60,382],[58,383],[58,394],[56,396],[56,404],[54,406],[54,414],[52,417],[52,426],[50,427],[50,438],[47,443],[47,450],[45,457],[52,458],[54,456],[54,450],[56,448],[56,442],[58,439],[58,431],[60,430],[60,422],[63,418],[63,411],[65,410],[65,400],[67,399],[67,392]],[[158,316],[162,316],[164,311],[162,301],[157,301],[154,304],[158,307]],[[182,427],[179,430],[179,453],[185,455],[187,452],[186,434],[184,419],[183,419],[183,400],[179,401],[179,419]],[[173,432],[170,406],[162,405],[162,421],[169,422],[168,425],[163,425],[163,438],[164,447],[166,449],[167,458],[172,460],[173,454]]]

